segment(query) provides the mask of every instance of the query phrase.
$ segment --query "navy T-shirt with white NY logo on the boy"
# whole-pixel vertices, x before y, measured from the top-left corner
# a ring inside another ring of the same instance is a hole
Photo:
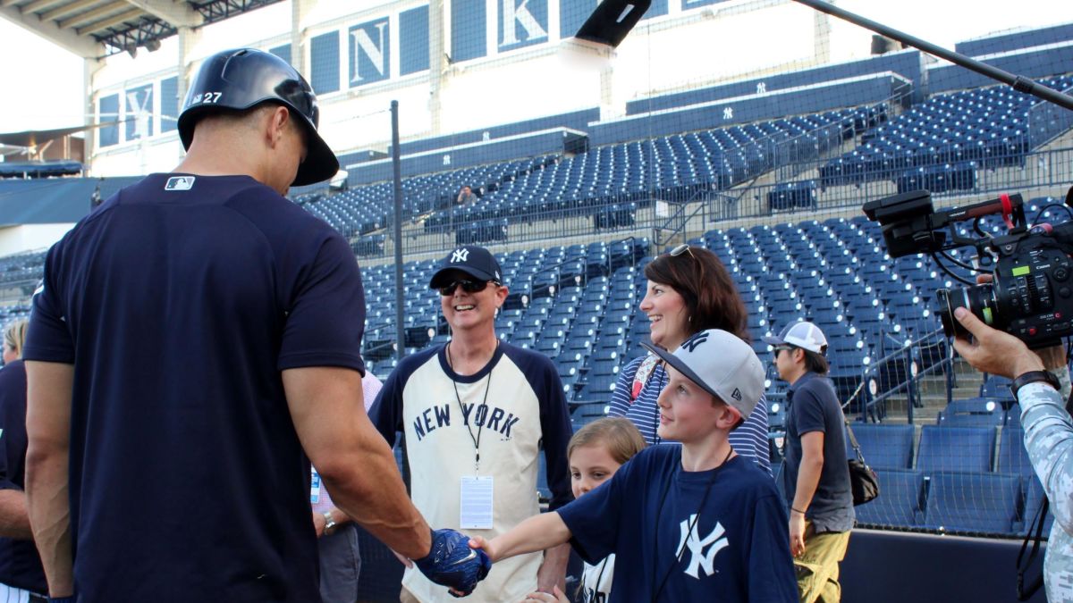
[[[789,518],[771,477],[740,456],[685,471],[681,450],[645,448],[558,511],[583,559],[615,554],[611,601],[796,602]]]

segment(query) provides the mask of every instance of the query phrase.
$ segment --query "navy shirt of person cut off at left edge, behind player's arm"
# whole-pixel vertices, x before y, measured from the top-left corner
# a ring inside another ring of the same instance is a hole
[[[0,369],[0,489],[26,486],[26,368],[23,361]],[[45,571],[32,540],[0,538],[0,583],[48,592]]]

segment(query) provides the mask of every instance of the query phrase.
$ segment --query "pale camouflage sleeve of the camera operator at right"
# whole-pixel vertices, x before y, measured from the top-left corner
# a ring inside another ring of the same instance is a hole
[[[1065,412],[1069,370],[1054,371],[1062,393],[1046,383],[1029,383],[1018,392],[1025,447],[1032,468],[1050,500],[1055,520],[1073,533],[1073,421]]]

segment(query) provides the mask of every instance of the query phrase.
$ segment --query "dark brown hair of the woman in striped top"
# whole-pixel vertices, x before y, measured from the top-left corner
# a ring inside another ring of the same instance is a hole
[[[690,335],[720,328],[747,343],[752,341],[745,304],[726,266],[715,253],[693,246],[678,255],[664,253],[645,266],[645,277],[681,295]]]

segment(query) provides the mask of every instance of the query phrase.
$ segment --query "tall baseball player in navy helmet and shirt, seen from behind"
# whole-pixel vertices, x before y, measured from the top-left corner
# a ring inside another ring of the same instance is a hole
[[[347,241],[283,194],[329,178],[285,61],[208,57],[188,155],[48,252],[25,357],[27,495],[54,601],[319,601],[310,461],[335,504],[439,584],[486,559],[431,532],[362,402]]]

